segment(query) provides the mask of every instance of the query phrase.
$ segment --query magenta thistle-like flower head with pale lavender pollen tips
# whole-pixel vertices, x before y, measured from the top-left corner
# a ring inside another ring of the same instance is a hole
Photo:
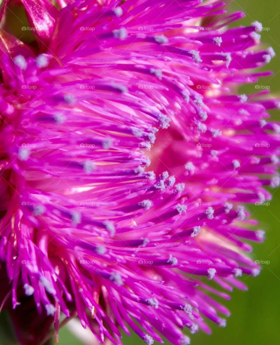
[[[243,14],[216,1],[21,6],[29,26],[0,32],[1,308],[21,344],[76,315],[113,344],[225,326],[208,292],[258,275],[243,204],[279,185],[279,100],[238,92],[269,74],[261,24],[227,29]]]

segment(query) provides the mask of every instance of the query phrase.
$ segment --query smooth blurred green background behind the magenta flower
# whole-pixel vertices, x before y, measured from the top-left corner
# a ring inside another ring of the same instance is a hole
[[[178,0],[180,2],[180,0]],[[246,17],[238,22],[240,25],[250,25],[258,20],[263,24],[266,31],[262,31],[262,42],[265,47],[272,46],[276,57],[272,59],[266,68],[274,71],[274,75],[261,79],[258,84],[270,87],[273,94],[280,95],[280,2],[278,0],[236,0],[228,1],[227,8],[232,11],[243,11]],[[236,25],[236,23],[234,24]],[[254,85],[242,87],[242,92],[255,92]],[[273,119],[279,120],[279,112],[271,112]],[[263,269],[258,277],[242,277],[248,285],[247,292],[235,289],[229,301],[223,303],[230,309],[231,316],[227,320],[225,328],[209,323],[212,328],[212,335],[198,332],[191,335],[192,345],[278,345],[280,344],[280,189],[271,190],[273,200],[269,206],[250,206],[251,217],[259,220],[260,229],[266,231],[267,239],[263,244],[254,244],[252,258],[254,260],[269,261],[269,264],[262,265]],[[27,316],[28,317],[28,316]],[[8,344],[1,337],[0,345]],[[137,336],[128,337],[124,335],[124,345],[143,345],[143,341]],[[67,326],[59,333],[59,345],[81,345],[80,342],[69,331]]]

